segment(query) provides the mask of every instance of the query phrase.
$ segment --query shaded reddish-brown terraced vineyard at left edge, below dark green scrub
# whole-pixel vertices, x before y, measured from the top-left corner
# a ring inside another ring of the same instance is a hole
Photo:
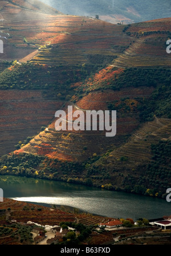
[[[44,99],[42,91],[0,91],[0,155],[15,150],[19,141],[39,133],[50,123],[62,101]]]

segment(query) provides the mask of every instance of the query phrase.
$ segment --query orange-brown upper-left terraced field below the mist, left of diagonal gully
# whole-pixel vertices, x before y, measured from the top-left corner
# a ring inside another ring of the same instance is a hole
[[[15,21],[14,17],[13,22],[4,23],[3,32],[9,33],[5,48],[6,58],[7,50],[13,49],[14,46],[18,55],[19,49],[25,50],[27,55],[28,50],[31,53],[31,50],[46,45],[45,48],[40,49],[32,62],[48,64],[54,62],[65,65],[84,64],[89,61],[88,55],[96,54],[111,56],[112,60],[112,57],[114,59],[132,41],[124,35],[125,40],[120,46],[123,40],[121,26],[70,15],[44,14],[42,17],[42,14],[38,14],[36,18],[23,18],[22,21]]]

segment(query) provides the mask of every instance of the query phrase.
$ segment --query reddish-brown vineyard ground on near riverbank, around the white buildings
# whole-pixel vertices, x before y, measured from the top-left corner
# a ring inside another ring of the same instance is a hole
[[[30,231],[33,230],[34,227],[42,226],[42,228],[50,228],[61,225],[61,222],[65,222],[66,224],[68,222],[75,223],[75,225],[82,224],[84,230],[89,229],[91,232],[89,233],[88,238],[86,237],[84,241],[81,240],[84,242],[84,244],[86,243],[87,245],[113,245],[116,242],[126,241],[124,238],[136,238],[138,234],[138,237],[140,237],[142,233],[144,234],[144,237],[148,238],[149,235],[147,236],[147,233],[155,234],[157,231],[160,231],[158,227],[145,225],[135,226],[134,223],[129,228],[116,227],[115,229],[101,230],[99,227],[97,227],[97,225],[99,225],[99,223],[107,223],[108,221],[113,221],[113,218],[100,217],[98,215],[84,213],[67,213],[63,210],[52,209],[46,206],[40,207],[36,204],[15,201],[8,198],[5,198],[4,202],[0,203],[0,209],[0,226],[2,230],[2,238],[0,239],[0,244],[8,243],[9,245],[31,245],[32,237],[30,236]],[[82,225],[78,225],[78,227],[82,227]],[[9,229],[10,235],[3,234],[3,232],[7,229]],[[16,236],[15,234],[13,235],[15,231],[17,233]],[[23,232],[25,232],[24,237]],[[77,242],[80,244],[79,241]]]

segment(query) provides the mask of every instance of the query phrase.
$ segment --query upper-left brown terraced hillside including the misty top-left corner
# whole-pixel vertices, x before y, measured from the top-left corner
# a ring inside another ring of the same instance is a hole
[[[105,58],[112,61],[131,42],[124,35],[120,47],[123,32],[119,25],[64,15],[38,1],[9,1],[1,6],[1,31],[6,38],[1,59],[83,65],[98,55],[96,61],[103,63]],[[32,55],[38,49],[39,54]]]

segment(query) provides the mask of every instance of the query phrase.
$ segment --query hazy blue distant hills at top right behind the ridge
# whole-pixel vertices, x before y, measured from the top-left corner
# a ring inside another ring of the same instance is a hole
[[[150,19],[170,17],[171,3],[168,0],[42,0],[43,3],[65,14],[99,15],[104,21],[135,23]]]

